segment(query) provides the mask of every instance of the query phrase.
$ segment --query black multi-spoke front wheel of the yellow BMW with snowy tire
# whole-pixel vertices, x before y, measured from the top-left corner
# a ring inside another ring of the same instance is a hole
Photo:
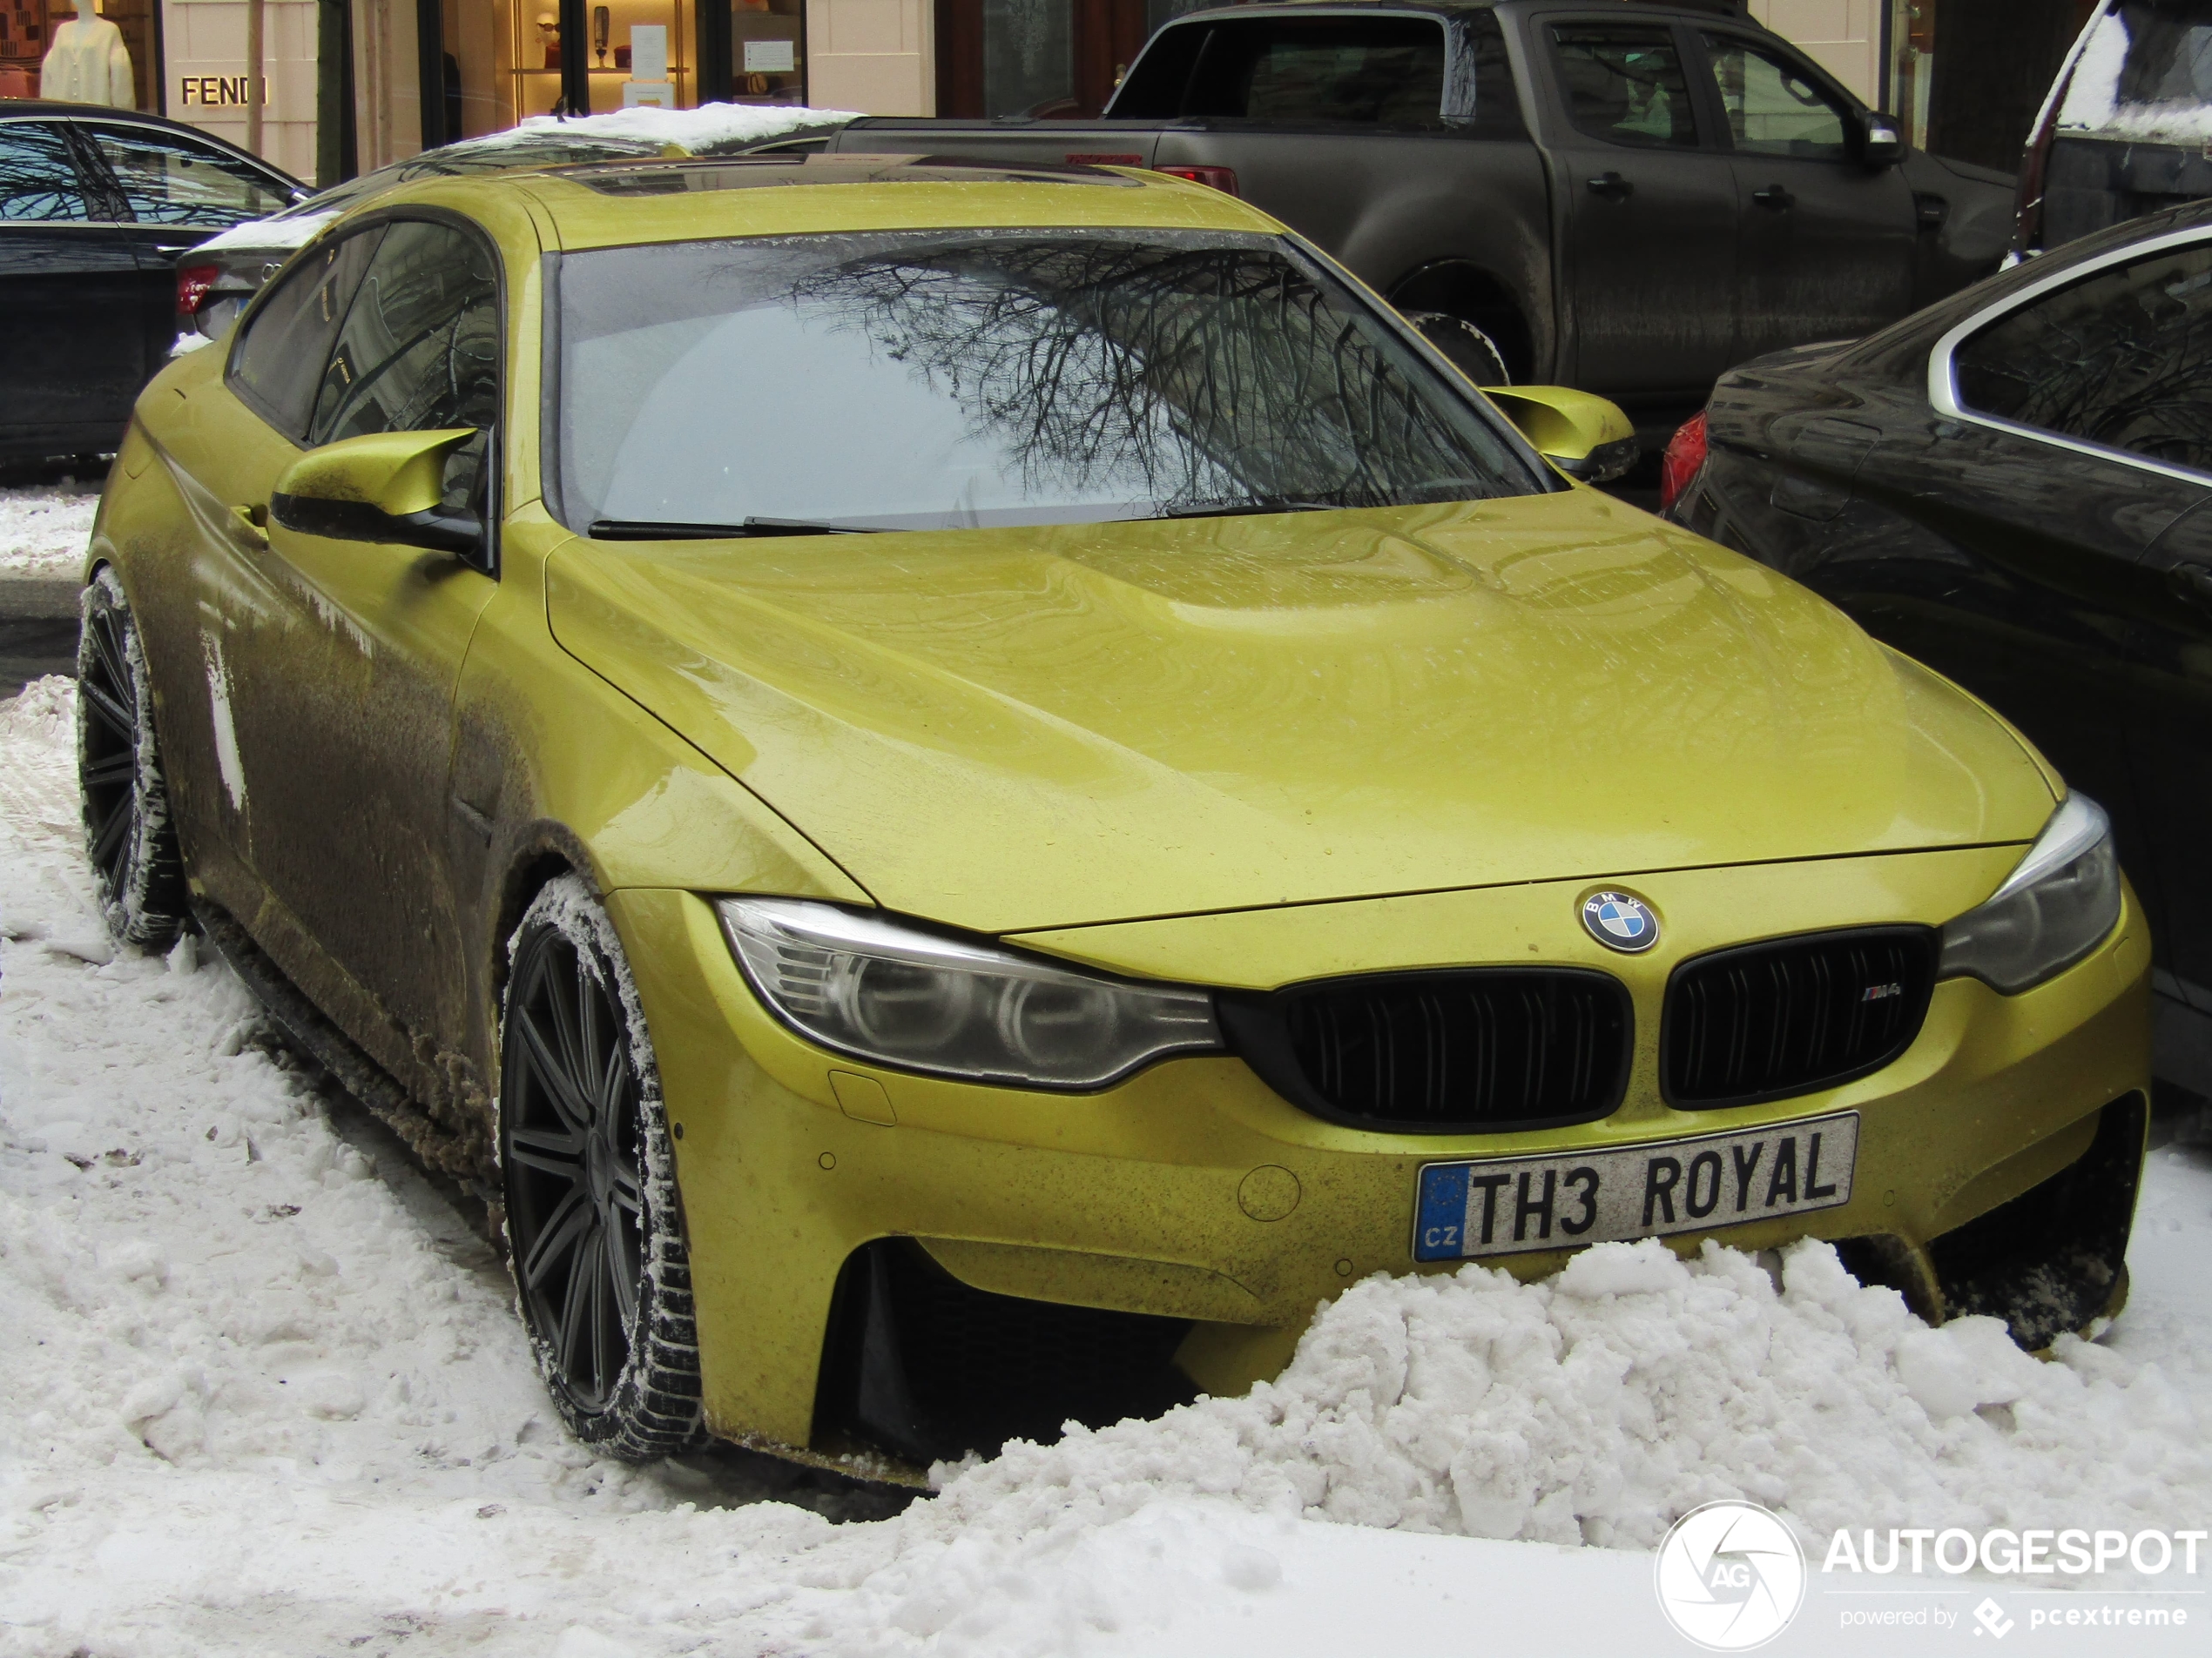
[[[624,1461],[701,1439],[699,1335],[661,1081],[622,940],[575,875],[509,951],[507,1258],[562,1421]]]

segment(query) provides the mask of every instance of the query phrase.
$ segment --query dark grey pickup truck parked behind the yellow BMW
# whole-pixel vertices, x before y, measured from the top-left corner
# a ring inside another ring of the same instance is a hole
[[[867,117],[827,148],[1234,190],[1478,382],[1595,391],[1639,433],[1993,272],[2013,230],[2011,177],[1907,148],[1765,29],[1621,0],[1192,11],[1099,119]]]

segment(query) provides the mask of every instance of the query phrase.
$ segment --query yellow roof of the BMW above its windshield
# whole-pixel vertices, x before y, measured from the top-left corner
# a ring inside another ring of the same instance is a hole
[[[1283,230],[1232,195],[1141,168],[867,153],[588,161],[422,181],[363,210],[467,212],[518,195],[564,250],[841,230]]]

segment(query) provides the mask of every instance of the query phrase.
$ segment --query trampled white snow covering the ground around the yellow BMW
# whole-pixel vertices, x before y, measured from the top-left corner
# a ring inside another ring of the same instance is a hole
[[[2135,1307],[2051,1364],[1825,1247],[1608,1245],[1544,1284],[1367,1280],[1250,1399],[1018,1444],[883,1521],[761,1501],[730,1452],[599,1461],[493,1253],[334,1127],[237,979],[108,948],[71,696],[0,705],[0,1651],[1650,1645],[1644,1550],[1712,1497],[1816,1565],[1834,1525],[2212,1514],[2201,1147],[2154,1154]],[[1869,1649],[1823,1616],[1778,1649]]]

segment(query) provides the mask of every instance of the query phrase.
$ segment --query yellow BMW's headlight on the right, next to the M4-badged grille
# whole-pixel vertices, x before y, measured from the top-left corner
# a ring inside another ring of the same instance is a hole
[[[2070,794],[1995,898],[1944,926],[1936,970],[2015,995],[2095,951],[2115,922],[2112,825],[2086,794]]]

